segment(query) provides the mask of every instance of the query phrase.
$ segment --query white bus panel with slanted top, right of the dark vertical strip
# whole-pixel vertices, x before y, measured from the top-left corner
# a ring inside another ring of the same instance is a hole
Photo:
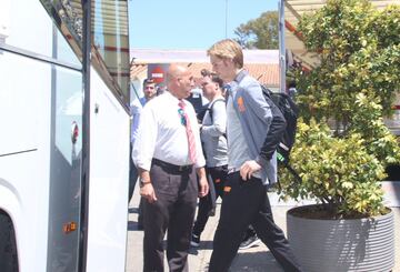
[[[87,271],[122,272],[127,250],[130,120],[97,71],[90,72]]]

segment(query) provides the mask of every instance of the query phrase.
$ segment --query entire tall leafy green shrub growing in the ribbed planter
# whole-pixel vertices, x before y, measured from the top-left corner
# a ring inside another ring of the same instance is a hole
[[[382,121],[400,85],[400,7],[328,0],[298,30],[320,66],[289,71],[302,117],[290,160],[302,181],[280,169],[282,198],[317,199],[334,218],[381,214],[384,168],[400,161]]]

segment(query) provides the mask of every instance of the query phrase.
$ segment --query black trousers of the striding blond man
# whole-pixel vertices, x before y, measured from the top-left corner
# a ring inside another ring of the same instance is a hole
[[[283,231],[273,222],[267,187],[260,179],[243,181],[239,172],[228,175],[220,221],[213,240],[209,271],[229,270],[243,233],[251,224],[284,271],[301,271]]]

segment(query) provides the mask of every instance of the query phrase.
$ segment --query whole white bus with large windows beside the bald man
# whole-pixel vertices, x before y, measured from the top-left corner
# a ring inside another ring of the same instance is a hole
[[[0,271],[124,271],[127,0],[0,0]]]

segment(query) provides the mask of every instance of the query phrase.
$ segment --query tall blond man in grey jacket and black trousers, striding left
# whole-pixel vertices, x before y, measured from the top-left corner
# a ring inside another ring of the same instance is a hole
[[[240,44],[226,39],[208,51],[213,71],[231,85],[227,101],[228,180],[213,240],[210,272],[229,270],[252,225],[284,271],[301,271],[283,231],[273,222],[267,184],[277,182],[277,159],[266,158],[272,112],[260,83],[243,69]]]

